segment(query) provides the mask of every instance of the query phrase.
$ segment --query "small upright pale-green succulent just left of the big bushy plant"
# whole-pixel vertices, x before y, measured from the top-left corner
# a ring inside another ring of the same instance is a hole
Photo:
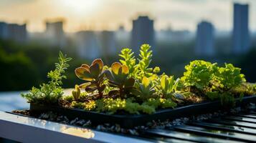
[[[179,84],[179,79],[174,80],[173,76],[168,77],[167,75],[163,75],[161,77],[160,83],[160,90],[163,94],[163,97],[169,99],[171,97],[178,97],[179,99],[181,96],[180,94],[176,94],[176,89]]]

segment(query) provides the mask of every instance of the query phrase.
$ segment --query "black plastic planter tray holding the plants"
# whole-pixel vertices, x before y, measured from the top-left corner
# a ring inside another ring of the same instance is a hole
[[[256,103],[256,96],[243,97],[242,102],[236,99],[237,105],[248,103]],[[205,102],[201,104],[192,104],[185,107],[178,107],[176,109],[161,109],[154,114],[105,114],[99,112],[86,112],[82,109],[71,109],[58,106],[30,104],[30,113],[33,115],[44,112],[57,112],[70,118],[90,119],[93,124],[120,124],[121,127],[131,128],[139,125],[145,125],[146,122],[152,120],[176,119],[179,117],[190,117],[196,114],[206,114],[223,109],[219,101]],[[227,109],[227,108],[226,108]]]

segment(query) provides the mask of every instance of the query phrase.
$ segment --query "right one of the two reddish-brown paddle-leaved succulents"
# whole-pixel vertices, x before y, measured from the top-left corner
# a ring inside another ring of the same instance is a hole
[[[128,66],[115,62],[111,65],[111,71],[108,70],[105,73],[110,87],[118,88],[118,90],[111,90],[108,93],[110,97],[125,98],[127,94],[130,94],[135,79],[128,78]]]

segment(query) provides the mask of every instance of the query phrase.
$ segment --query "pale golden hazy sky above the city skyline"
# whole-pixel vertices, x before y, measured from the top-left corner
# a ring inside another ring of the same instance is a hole
[[[65,19],[65,31],[131,30],[138,15],[154,19],[156,30],[195,31],[207,20],[216,29],[232,29],[233,2],[250,4],[250,29],[256,31],[256,0],[0,0],[0,21],[27,23],[29,31],[44,31],[44,21]]]

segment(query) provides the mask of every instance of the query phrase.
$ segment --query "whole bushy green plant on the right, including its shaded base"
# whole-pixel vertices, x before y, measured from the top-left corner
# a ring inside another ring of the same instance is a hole
[[[196,87],[209,99],[221,99],[222,104],[234,105],[232,90],[245,83],[245,75],[240,74],[240,68],[232,64],[224,67],[207,61],[191,61],[185,66],[186,71],[181,80],[186,87]]]

